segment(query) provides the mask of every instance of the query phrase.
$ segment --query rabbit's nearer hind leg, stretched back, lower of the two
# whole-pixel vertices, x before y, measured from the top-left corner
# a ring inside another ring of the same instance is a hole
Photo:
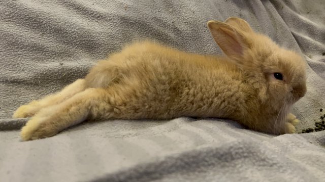
[[[41,109],[22,128],[21,138],[42,139],[89,118],[112,118],[116,110],[112,102],[107,89],[87,88],[60,104]]]

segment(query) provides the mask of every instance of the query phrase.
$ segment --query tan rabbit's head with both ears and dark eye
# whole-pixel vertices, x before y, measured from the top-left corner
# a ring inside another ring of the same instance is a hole
[[[209,21],[208,27],[229,61],[242,71],[243,81],[258,90],[262,105],[280,112],[306,94],[306,62],[300,55],[254,32],[240,18]]]

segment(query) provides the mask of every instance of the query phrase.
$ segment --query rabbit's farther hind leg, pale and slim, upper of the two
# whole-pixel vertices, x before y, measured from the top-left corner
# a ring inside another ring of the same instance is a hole
[[[42,108],[59,104],[64,100],[69,99],[75,94],[82,92],[86,89],[85,80],[78,79],[70,85],[64,87],[61,92],[53,95],[46,96],[38,101],[31,101],[27,105],[20,106],[13,114],[14,118],[26,118],[34,116]]]

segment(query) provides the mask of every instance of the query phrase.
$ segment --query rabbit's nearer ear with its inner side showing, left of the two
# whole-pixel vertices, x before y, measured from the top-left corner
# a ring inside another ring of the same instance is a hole
[[[241,60],[244,50],[250,47],[242,32],[229,24],[219,21],[209,21],[208,27],[224,54],[231,59]]]

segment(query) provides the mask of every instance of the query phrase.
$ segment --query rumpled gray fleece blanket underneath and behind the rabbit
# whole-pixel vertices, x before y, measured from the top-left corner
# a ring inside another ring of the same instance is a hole
[[[221,54],[206,27],[248,21],[308,62],[298,131],[325,107],[323,0],[16,0],[0,2],[0,181],[323,181],[325,131],[268,135],[193,118],[89,122],[20,142],[13,111],[87,74],[134,39]]]

